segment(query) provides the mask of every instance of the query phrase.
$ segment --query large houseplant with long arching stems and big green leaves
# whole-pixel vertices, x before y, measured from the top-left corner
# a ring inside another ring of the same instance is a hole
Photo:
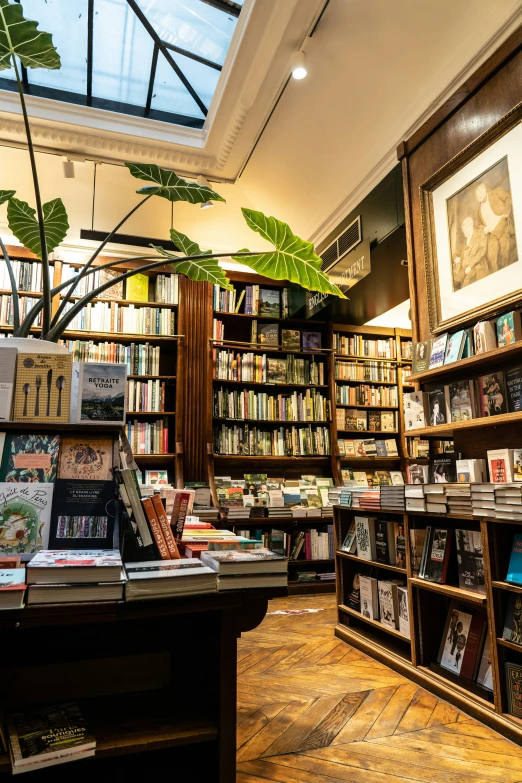
[[[18,93],[22,107],[27,147],[31,161],[31,171],[34,183],[36,209],[25,201],[17,199],[14,190],[0,190],[0,204],[7,204],[7,221],[14,236],[39,259],[43,267],[43,295],[26,317],[20,319],[18,291],[11,261],[0,239],[0,248],[7,262],[13,292],[13,332],[14,337],[26,338],[34,327],[40,313],[42,314],[41,339],[56,342],[67,329],[71,320],[90,301],[103,293],[120,280],[124,280],[136,271],[146,271],[165,264],[166,259],[179,274],[192,280],[218,283],[223,288],[231,288],[230,281],[217,261],[220,257],[232,258],[248,265],[256,272],[273,280],[289,280],[303,288],[321,293],[334,294],[343,297],[341,290],[330,282],[328,276],[321,271],[321,260],[316,255],[314,247],[295,236],[290,227],[274,217],[265,217],[261,212],[243,209],[247,225],[273,245],[269,252],[241,250],[236,253],[212,253],[202,250],[179,231],[171,230],[171,239],[179,248],[178,253],[170,253],[162,247],[154,247],[153,255],[137,256],[128,259],[139,261],[139,270],[132,270],[109,280],[104,285],[83,296],[75,304],[71,304],[71,296],[86,275],[95,271],[93,262],[99,256],[105,245],[126,220],[148,199],[153,196],[169,201],[188,201],[191,204],[202,204],[207,201],[224,201],[224,199],[209,187],[196,182],[187,182],[173,171],[162,169],[150,164],[125,164],[133,177],[150,184],[140,188],[137,193],[143,199],[118,223],[106,236],[100,246],[92,253],[89,260],[80,269],[76,277],[67,283],[51,288],[49,283],[49,254],[63,241],[69,228],[67,212],[60,198],[42,204],[40,186],[36,169],[36,160],[31,138],[31,129],[25,103],[22,83],[20,80],[19,63],[26,68],[60,68],[60,56],[53,45],[52,35],[38,29],[38,22],[25,19],[22,5],[18,2],[0,0],[0,70],[14,68]],[[110,266],[105,264],[104,266]],[[103,268],[97,266],[96,269]],[[55,294],[64,291],[57,312],[52,316],[51,300]]]

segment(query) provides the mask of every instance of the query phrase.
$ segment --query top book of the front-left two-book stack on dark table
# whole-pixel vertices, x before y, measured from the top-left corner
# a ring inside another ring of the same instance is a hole
[[[122,569],[118,549],[47,549],[27,564],[27,584],[121,582]]]

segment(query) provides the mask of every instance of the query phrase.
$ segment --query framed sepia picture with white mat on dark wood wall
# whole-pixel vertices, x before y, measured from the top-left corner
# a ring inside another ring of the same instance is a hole
[[[434,334],[522,300],[521,119],[517,107],[421,186]]]

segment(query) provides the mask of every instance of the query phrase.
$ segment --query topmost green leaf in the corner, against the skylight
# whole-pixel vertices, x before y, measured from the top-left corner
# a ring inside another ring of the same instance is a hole
[[[60,67],[52,35],[37,28],[38,22],[24,19],[19,3],[0,0],[0,70],[11,68],[15,55],[26,68]]]

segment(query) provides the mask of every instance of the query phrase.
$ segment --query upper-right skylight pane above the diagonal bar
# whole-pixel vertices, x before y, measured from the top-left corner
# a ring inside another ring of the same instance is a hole
[[[223,65],[237,18],[201,0],[138,0],[163,41]]]

